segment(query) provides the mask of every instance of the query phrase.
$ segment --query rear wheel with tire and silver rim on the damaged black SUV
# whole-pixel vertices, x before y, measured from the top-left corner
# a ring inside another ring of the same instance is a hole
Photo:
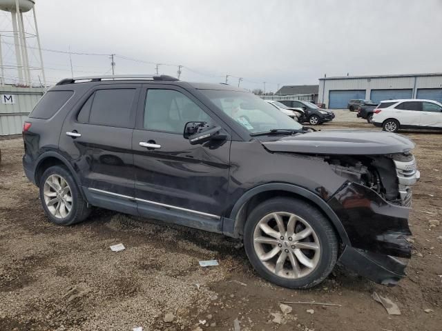
[[[52,223],[72,225],[84,221],[90,214],[90,207],[81,197],[72,174],[60,165],[46,169],[40,179],[39,193],[44,212]]]

